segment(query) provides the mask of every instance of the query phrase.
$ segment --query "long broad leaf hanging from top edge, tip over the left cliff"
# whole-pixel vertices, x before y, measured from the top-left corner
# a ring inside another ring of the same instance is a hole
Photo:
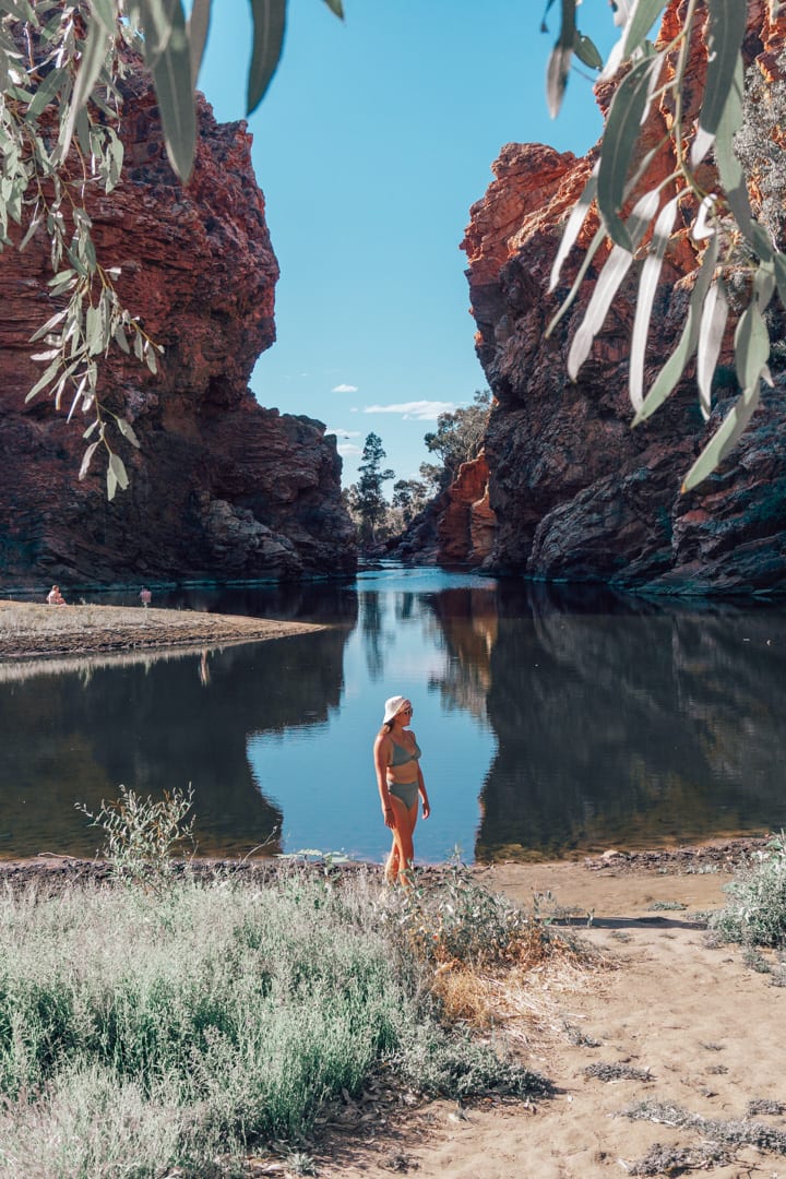
[[[144,12],[156,7],[151,0],[143,0]],[[158,52],[153,53],[151,72],[161,112],[166,154],[176,176],[186,184],[193,167],[197,144],[191,47],[180,0],[170,0],[169,14],[170,33],[165,40],[159,41]]]

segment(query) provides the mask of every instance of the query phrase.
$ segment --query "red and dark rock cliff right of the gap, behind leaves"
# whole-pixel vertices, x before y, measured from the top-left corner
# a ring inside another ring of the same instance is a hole
[[[663,37],[681,15],[668,6]],[[748,60],[772,75],[784,29],[764,0],[748,5]],[[704,68],[700,40],[692,48]],[[689,88],[689,87],[688,87]],[[601,106],[610,100],[603,88]],[[694,101],[688,94],[689,104]],[[656,111],[650,136],[668,124]],[[721,470],[680,495],[688,470],[731,406],[719,388],[705,427],[693,370],[667,404],[630,429],[628,355],[635,282],[622,288],[575,383],[566,371],[601,261],[590,268],[573,311],[549,340],[546,327],[575,275],[574,251],[562,288],[547,295],[561,222],[579,196],[586,159],[536,144],[508,144],[495,179],[471,210],[463,249],[469,259],[476,347],[496,406],[486,439],[489,505],[496,515],[487,567],[535,578],[603,580],[630,587],[694,592],[786,588],[786,376],[762,400],[752,427]],[[595,230],[584,226],[580,246]],[[570,271],[573,265],[573,272]],[[671,354],[685,321],[695,259],[683,232],[667,256],[647,357],[647,384]],[[729,360],[727,355],[726,361]],[[731,369],[721,370],[729,378]]]

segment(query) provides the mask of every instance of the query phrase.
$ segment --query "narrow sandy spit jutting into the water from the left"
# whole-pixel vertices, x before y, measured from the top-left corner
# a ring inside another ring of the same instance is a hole
[[[133,651],[206,651],[325,630],[312,623],[145,606],[0,600],[0,664]]]

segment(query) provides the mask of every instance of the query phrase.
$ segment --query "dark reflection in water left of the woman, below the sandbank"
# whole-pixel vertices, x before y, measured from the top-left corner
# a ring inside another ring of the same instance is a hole
[[[156,797],[191,783],[202,855],[279,850],[282,815],[257,788],[246,736],[325,716],[339,699],[344,641],[336,627],[205,658],[85,660],[58,674],[32,665],[21,679],[21,668],[8,668],[0,855],[92,855],[101,832],[74,803],[95,811],[120,783]]]

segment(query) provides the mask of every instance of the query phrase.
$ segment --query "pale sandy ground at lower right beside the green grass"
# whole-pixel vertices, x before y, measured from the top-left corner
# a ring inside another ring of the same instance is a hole
[[[656,1142],[695,1152],[698,1164],[709,1134],[630,1120],[622,1111],[658,1101],[705,1119],[737,1120],[752,1101],[786,1102],[786,988],[747,967],[739,947],[709,947],[696,918],[724,904],[729,876],[696,867],[701,870],[678,874],[674,865],[642,869],[621,861],[482,871],[490,888],[522,903],[550,891],[559,905],[593,914],[593,924],[584,921],[579,931],[606,961],[533,980],[530,1015],[519,1022],[520,1054],[555,1084],[556,1095],[530,1106],[487,1100],[457,1108],[435,1101],[389,1112],[384,1122],[370,1120],[364,1129],[350,1119],[312,1152],[319,1175],[590,1179],[635,1173]],[[652,908],[663,903],[686,908]],[[768,960],[775,964],[773,955]],[[603,1081],[584,1072],[620,1063],[649,1079]],[[786,1128],[782,1117],[754,1120]],[[700,1173],[784,1177],[786,1157],[729,1148],[729,1161],[701,1166]]]

